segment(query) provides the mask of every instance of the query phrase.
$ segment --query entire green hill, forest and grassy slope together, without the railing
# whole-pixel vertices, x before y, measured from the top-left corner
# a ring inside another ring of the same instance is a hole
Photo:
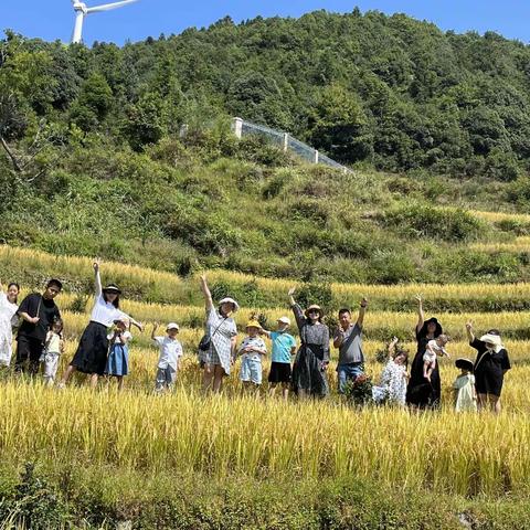
[[[123,47],[7,31],[0,242],[182,275],[524,280],[526,247],[470,244],[528,223],[465,210],[530,212],[529,105],[530,47],[404,15],[225,18]],[[237,141],[236,115],[356,172]]]

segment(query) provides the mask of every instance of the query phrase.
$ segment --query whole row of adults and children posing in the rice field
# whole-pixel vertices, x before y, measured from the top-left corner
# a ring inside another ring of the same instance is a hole
[[[0,293],[0,365],[9,367],[12,357],[12,329],[18,327],[14,371],[36,374],[42,364],[47,384],[64,386],[74,372],[89,377],[95,386],[102,377],[115,377],[123,386],[129,372],[128,346],[130,328],[144,327],[120,309],[120,289],[115,284],[103,287],[99,262],[94,262],[95,299],[91,320],[82,333],[75,354],[62,378],[56,381],[59,359],[64,354],[63,321],[55,305],[62,290],[57,279],[51,279],[42,294],[31,294],[18,305],[20,287],[15,283],[1,286]],[[283,316],[276,330],[266,330],[251,318],[246,337],[237,344],[234,314],[239,310],[235,299],[226,297],[218,304],[212,299],[206,277],[201,276],[201,290],[205,300],[205,332],[199,344],[203,389],[219,392],[223,379],[230,375],[235,359],[241,356],[240,379],[247,388],[259,386],[263,381],[263,359],[267,356],[264,337],[272,342],[272,363],[268,374],[269,393],[282,388],[284,398],[293,390],[297,396],[324,398],[329,393],[328,368],[330,362],[330,332],[324,322],[324,310],[318,305],[303,309],[296,303],[295,289],[288,292],[290,307],[298,328],[300,344],[289,333],[290,319]],[[443,333],[436,318],[425,320],[422,299],[417,298],[418,321],[415,329],[417,351],[407,371],[407,352],[393,339],[388,348],[388,362],[379,385],[373,386],[375,402],[409,405],[412,409],[436,409],[441,403],[442,384],[439,357],[449,357],[445,347],[448,337]],[[339,310],[339,326],[332,337],[338,349],[338,392],[347,392],[359,378],[364,377],[362,329],[368,300],[360,301],[357,320],[352,321],[349,308]],[[20,326],[19,326],[20,322]],[[151,331],[153,344],[159,349],[155,388],[171,389],[177,380],[179,359],[183,354],[178,340],[179,326],[169,322],[166,333],[157,336],[159,325]],[[457,411],[490,409],[500,411],[500,393],[504,374],[510,369],[508,352],[500,333],[490,329],[477,338],[473,324],[466,324],[469,344],[477,350],[476,361],[457,359],[460,374],[453,388]],[[292,361],[294,358],[294,362]]]

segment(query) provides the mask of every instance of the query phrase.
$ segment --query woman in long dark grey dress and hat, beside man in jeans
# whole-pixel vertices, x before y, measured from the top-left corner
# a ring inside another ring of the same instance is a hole
[[[293,365],[293,390],[298,398],[324,398],[329,393],[326,371],[329,364],[329,329],[322,324],[320,306],[310,305],[305,311],[294,298],[295,288],[288,292],[301,344]]]

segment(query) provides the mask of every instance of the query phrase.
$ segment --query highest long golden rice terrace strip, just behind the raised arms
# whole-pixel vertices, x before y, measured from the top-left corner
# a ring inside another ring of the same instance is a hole
[[[507,215],[507,214],[504,214]],[[530,218],[530,215],[529,215]],[[521,245],[528,243],[528,239],[518,239]],[[500,243],[499,243],[500,244]],[[513,243],[518,244],[518,243]],[[494,244],[498,245],[498,244]],[[484,248],[487,248],[484,244]],[[31,248],[18,248],[0,245],[0,267],[6,268],[9,265],[17,266],[17,269],[23,275],[24,272],[39,271],[42,278],[56,276],[65,280],[66,290],[72,287],[78,288],[78,282],[83,280],[89,285],[92,283],[93,271],[92,259],[88,257],[76,256],[54,256],[44,252]],[[1,271],[1,268],[0,268]],[[183,280],[177,275],[163,273],[149,268],[142,268],[134,265],[121,264],[117,262],[105,262],[102,265],[102,274],[104,282],[114,282],[118,285],[134,286],[132,292],[125,289],[126,295],[136,296],[137,292],[147,292],[147,299],[150,299],[152,293],[165,303],[177,303],[188,305],[190,300],[198,299],[199,277]],[[274,295],[275,299],[286,298],[287,290],[293,286],[299,286],[297,282],[278,278],[259,278],[242,273],[233,273],[226,271],[209,271],[206,272],[209,282],[213,285],[219,282],[226,282],[231,285],[244,285],[255,283],[257,288],[269,295]],[[2,277],[2,282],[9,282],[17,278]],[[74,283],[74,285],[71,285]],[[23,286],[24,287],[24,286]],[[32,285],[36,288],[39,286]],[[400,285],[365,285],[365,284],[330,284],[333,297],[338,300],[354,300],[361,297],[368,297],[372,303],[393,301],[398,304],[403,301],[406,307],[417,295],[425,300],[444,300],[448,304],[452,301],[466,303],[473,305],[474,301],[490,300],[492,304],[501,305],[507,303],[520,303],[530,299],[530,284],[400,284]],[[66,294],[61,295],[63,306],[68,306],[73,301],[73,297]],[[129,307],[135,307],[129,301]],[[157,305],[149,306],[156,310]]]

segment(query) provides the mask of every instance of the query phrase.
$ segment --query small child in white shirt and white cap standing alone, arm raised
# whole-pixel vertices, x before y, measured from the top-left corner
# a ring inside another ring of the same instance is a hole
[[[179,359],[183,356],[182,344],[177,339],[179,335],[179,325],[170,322],[166,327],[165,337],[156,337],[158,322],[155,322],[151,332],[151,339],[160,349],[160,357],[157,367],[156,392],[171,391],[177,381],[179,371]]]

